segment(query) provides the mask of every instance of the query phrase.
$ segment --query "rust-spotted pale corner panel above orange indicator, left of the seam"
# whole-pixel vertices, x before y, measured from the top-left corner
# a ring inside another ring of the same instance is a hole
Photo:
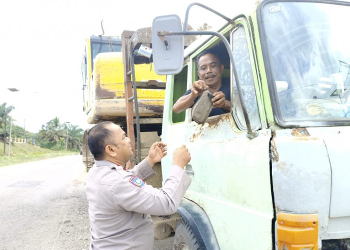
[[[331,182],[328,154],[323,140],[306,131],[276,130],[271,140],[275,208],[276,212],[321,212],[320,223],[325,223]]]

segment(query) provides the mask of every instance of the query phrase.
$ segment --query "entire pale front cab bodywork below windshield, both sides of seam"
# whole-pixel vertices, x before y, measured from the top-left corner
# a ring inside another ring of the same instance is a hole
[[[276,212],[317,213],[318,240],[350,236],[350,127],[276,130],[271,166]]]

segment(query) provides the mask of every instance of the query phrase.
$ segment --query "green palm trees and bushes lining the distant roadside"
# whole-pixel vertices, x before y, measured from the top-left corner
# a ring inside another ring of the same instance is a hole
[[[11,122],[10,112],[13,109],[14,106],[6,106],[6,102],[0,105],[0,139],[3,141],[6,124],[7,143]],[[37,133],[27,131],[13,124],[13,121],[14,119],[12,119],[11,138],[34,139],[36,145],[53,150],[62,150],[66,147],[67,150],[79,150],[81,146],[83,129],[70,123],[61,123],[58,117],[42,124]]]

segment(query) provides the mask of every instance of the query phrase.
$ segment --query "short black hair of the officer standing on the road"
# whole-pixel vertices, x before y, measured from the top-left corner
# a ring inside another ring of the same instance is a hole
[[[111,121],[103,121],[94,125],[87,132],[87,144],[90,152],[96,160],[102,159],[104,148],[109,143],[111,132],[106,126],[113,124]]]

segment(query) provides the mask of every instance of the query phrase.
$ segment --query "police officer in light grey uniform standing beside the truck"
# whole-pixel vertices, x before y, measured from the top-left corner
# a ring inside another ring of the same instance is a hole
[[[126,170],[133,153],[130,139],[118,125],[105,121],[93,126],[87,141],[95,158],[85,183],[90,249],[152,249],[149,214],[174,213],[191,182],[183,170],[191,158],[187,148],[182,145],[174,150],[168,177],[157,189],[144,180],[155,175],[152,166],[166,155],[165,143],[153,143],[147,157]]]

